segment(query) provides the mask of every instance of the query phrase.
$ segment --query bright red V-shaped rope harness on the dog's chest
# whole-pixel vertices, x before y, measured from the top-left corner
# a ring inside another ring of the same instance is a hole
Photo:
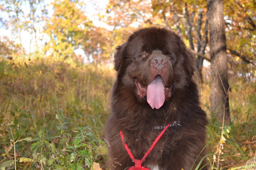
[[[128,152],[129,156],[131,157],[132,161],[135,163],[135,166],[130,167],[128,170],[150,170],[148,168],[146,168],[145,166],[141,166],[141,164],[143,163],[143,161],[147,158],[148,154],[152,151],[152,149],[154,148],[154,146],[156,145],[156,143],[158,142],[158,140],[162,137],[162,135],[164,134],[165,130],[170,126],[171,124],[168,124],[163,130],[162,132],[158,135],[158,137],[156,137],[155,141],[153,142],[153,144],[150,146],[150,148],[148,149],[148,151],[145,153],[145,155],[143,156],[143,158],[141,160],[137,160],[134,158],[134,156],[132,155],[132,152],[130,151],[130,149],[128,148],[127,144],[124,143],[124,134],[122,131],[120,131],[120,136],[122,139],[122,142],[124,144],[124,147],[126,149],[126,151]]]

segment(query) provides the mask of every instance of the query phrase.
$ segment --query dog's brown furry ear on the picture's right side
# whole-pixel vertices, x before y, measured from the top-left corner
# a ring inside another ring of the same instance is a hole
[[[185,66],[186,66],[186,70],[187,70],[187,73],[190,77],[193,76],[194,74],[194,70],[195,70],[195,61],[196,61],[196,57],[194,55],[194,53],[192,53],[192,51],[190,51],[186,46],[185,44],[182,42],[181,43],[181,49],[182,49],[182,55],[184,56],[185,58]]]

